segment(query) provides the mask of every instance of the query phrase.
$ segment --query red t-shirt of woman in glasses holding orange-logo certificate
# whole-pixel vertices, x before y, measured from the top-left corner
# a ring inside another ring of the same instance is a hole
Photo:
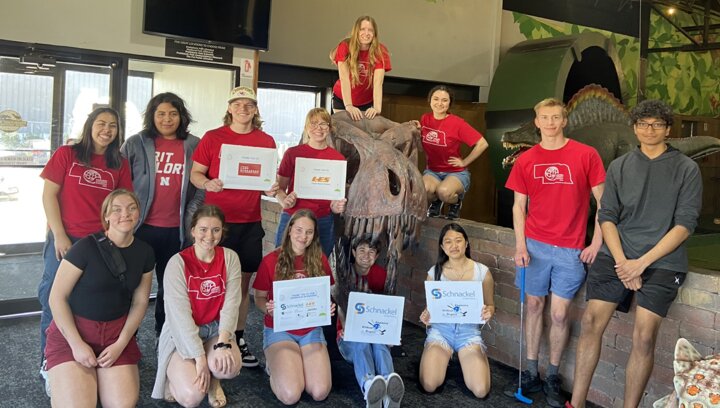
[[[345,156],[329,146],[325,149],[317,150],[310,147],[309,144],[302,144],[287,149],[278,167],[278,176],[290,178],[288,194],[295,190],[295,161],[298,157],[322,160],[345,160]],[[286,208],[283,211],[292,215],[303,208],[311,210],[317,218],[330,215],[330,201],[310,198],[298,198],[297,201],[295,201],[295,206]]]

